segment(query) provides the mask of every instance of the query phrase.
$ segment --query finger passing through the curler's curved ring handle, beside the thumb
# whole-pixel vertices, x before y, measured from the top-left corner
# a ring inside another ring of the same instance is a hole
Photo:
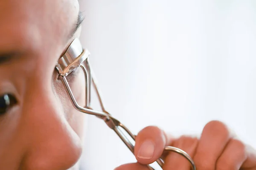
[[[182,136],[173,142],[173,146],[184,150],[190,157],[195,155],[198,139],[190,136]],[[164,159],[163,170],[190,170],[190,162],[178,153],[169,152]]]

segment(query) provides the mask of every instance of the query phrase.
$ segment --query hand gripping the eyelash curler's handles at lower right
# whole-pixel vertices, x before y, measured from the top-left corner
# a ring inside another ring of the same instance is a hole
[[[163,153],[165,146],[184,150],[195,161],[197,170],[256,170],[256,151],[236,139],[227,126],[209,122],[200,139],[189,136],[173,138],[158,127],[146,127],[136,137],[134,153],[137,163],[125,164],[115,170],[148,170],[162,157],[163,170],[190,170],[189,161],[174,152]]]

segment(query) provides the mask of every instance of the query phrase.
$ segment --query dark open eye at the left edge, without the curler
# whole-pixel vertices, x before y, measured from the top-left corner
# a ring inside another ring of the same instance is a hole
[[[6,113],[12,106],[17,104],[17,99],[12,94],[0,96],[0,115]]]

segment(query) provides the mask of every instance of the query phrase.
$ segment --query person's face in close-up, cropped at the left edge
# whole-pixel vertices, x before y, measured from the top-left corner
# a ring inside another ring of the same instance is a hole
[[[0,169],[66,170],[81,155],[84,115],[55,65],[79,31],[77,0],[0,0]],[[70,79],[84,104],[84,77]]]

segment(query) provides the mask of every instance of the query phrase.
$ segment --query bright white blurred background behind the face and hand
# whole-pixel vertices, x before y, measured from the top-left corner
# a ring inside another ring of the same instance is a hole
[[[221,120],[256,147],[255,0],[81,0],[80,7],[81,41],[106,108],[132,132],[157,125],[200,135]],[[102,120],[87,118],[81,170],[136,161]]]

